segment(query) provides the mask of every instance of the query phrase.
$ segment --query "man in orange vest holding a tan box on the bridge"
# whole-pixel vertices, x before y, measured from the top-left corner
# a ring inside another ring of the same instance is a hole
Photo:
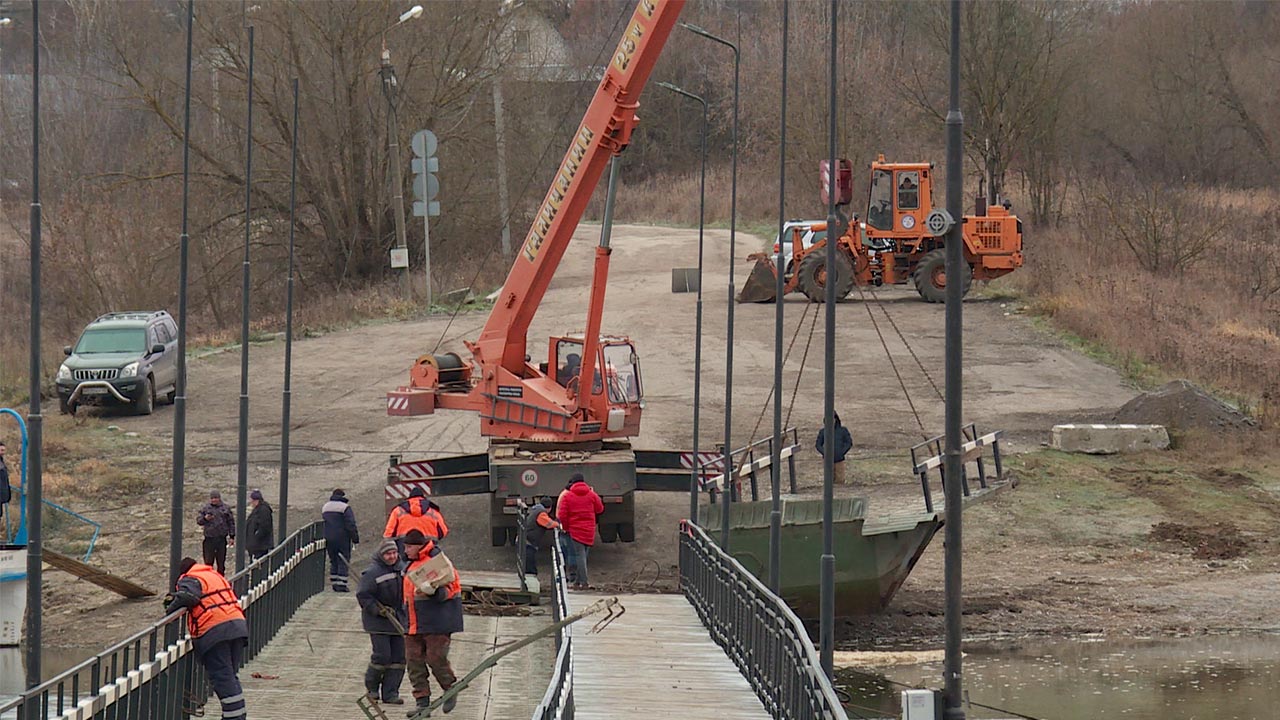
[[[430,557],[439,555],[440,548],[421,530],[410,530],[403,539],[404,553],[410,562],[404,569],[404,605],[408,610],[408,634],[404,635],[404,646],[408,680],[413,685],[417,710],[421,710],[431,705],[431,680],[428,669],[444,692],[457,682],[453,666],[449,665],[449,643],[453,633],[462,632],[462,579],[454,570],[452,583],[436,588],[433,594],[419,592],[408,579],[408,574]],[[454,705],[456,697],[451,697],[440,708],[448,714]],[[413,711],[410,716],[412,715]]]

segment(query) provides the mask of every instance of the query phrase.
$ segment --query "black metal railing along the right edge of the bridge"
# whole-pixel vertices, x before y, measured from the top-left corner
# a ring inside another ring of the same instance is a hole
[[[769,715],[847,720],[800,619],[689,521],[681,523],[680,585]]]

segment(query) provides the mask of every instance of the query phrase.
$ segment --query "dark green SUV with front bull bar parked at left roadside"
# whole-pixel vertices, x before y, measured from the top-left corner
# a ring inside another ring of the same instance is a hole
[[[109,313],[63,348],[58,405],[74,414],[81,405],[128,405],[150,415],[156,398],[178,392],[178,325],[164,310]]]

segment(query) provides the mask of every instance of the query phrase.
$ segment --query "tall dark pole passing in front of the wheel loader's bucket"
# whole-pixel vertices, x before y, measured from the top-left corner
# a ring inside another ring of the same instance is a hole
[[[782,295],[786,284],[790,243],[783,234],[787,227],[787,28],[790,6],[782,3],[782,119],[778,129],[778,260],[777,297],[773,307],[773,448],[769,457],[769,483],[773,486],[773,510],[769,511],[769,589],[777,594],[782,584]]]

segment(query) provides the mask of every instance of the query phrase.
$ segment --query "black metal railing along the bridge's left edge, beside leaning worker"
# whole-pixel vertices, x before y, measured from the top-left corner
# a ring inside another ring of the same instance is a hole
[[[248,662],[325,587],[324,524],[312,523],[229,578],[248,623]],[[183,720],[210,697],[187,637],[186,610],[172,612],[56,678],[0,705],[3,720]]]

